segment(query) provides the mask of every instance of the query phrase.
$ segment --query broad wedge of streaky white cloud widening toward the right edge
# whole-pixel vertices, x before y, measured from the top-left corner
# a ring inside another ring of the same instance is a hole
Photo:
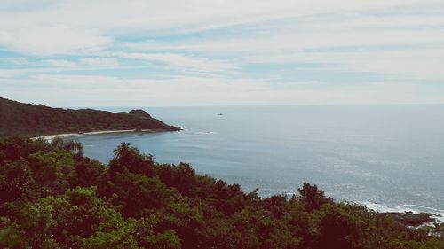
[[[224,55],[240,64],[310,63],[403,79],[444,79],[440,69],[444,63],[444,18],[440,16],[354,13],[281,19],[250,28],[256,32],[248,36],[125,46],[138,51]]]

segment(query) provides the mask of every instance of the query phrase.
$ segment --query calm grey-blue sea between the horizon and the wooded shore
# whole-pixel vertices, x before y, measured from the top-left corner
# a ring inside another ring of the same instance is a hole
[[[444,105],[142,109],[185,129],[75,139],[104,163],[128,142],[159,162],[188,162],[263,197],[296,193],[309,182],[338,201],[379,211],[444,214]]]

